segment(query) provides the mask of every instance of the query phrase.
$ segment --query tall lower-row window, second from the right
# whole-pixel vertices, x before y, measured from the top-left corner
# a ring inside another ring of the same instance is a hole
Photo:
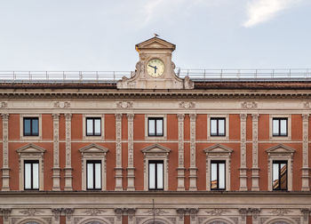
[[[211,189],[226,189],[226,162],[211,161]]]

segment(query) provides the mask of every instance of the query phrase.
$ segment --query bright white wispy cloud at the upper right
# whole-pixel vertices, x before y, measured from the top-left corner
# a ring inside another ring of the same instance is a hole
[[[273,19],[279,12],[288,9],[303,0],[253,0],[247,6],[248,20],[243,27],[251,28],[259,23]]]

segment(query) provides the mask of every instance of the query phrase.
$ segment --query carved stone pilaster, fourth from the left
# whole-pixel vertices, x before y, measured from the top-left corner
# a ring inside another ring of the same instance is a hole
[[[115,190],[123,190],[122,185],[122,114],[116,114],[116,187]]]

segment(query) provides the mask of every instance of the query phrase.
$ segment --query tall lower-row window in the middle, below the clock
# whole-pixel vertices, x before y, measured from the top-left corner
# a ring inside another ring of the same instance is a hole
[[[163,161],[149,161],[149,189],[163,190]]]

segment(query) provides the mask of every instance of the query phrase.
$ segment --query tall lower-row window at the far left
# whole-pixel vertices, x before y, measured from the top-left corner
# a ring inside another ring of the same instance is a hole
[[[39,189],[39,161],[24,161],[24,189]]]

